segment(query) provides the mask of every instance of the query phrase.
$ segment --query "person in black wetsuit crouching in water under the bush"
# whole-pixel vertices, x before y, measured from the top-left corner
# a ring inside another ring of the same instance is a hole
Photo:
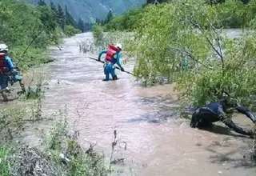
[[[238,110],[239,113],[245,114],[247,118],[250,118],[252,122],[256,122],[256,118],[250,110],[239,105],[236,99],[231,98],[226,94],[222,100],[218,102],[210,102],[208,105],[195,110],[194,114],[192,114],[190,126],[193,128],[202,128],[212,126],[213,122],[221,121],[235,132],[253,138],[253,130],[243,129],[232,121],[234,110]]]

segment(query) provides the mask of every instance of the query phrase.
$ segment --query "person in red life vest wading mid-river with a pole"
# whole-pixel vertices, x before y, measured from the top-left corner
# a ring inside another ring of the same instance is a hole
[[[105,58],[105,63],[103,65],[104,68],[104,74],[106,75],[105,79],[102,81],[109,81],[110,80],[110,74],[113,80],[117,80],[118,77],[115,74],[115,66],[114,64],[118,64],[119,68],[121,71],[124,71],[122,68],[122,65],[120,63],[120,58],[121,58],[121,51],[122,50],[122,45],[120,43],[114,45],[110,45],[107,50],[102,50],[98,54],[98,61],[101,61],[102,54],[106,54]]]

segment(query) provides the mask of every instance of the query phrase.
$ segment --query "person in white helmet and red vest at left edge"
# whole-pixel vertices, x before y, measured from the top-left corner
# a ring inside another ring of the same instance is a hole
[[[7,55],[8,46],[2,43],[0,44],[0,86],[1,94],[4,102],[8,101],[6,93],[9,92],[8,82],[19,82],[22,87],[22,91],[25,90],[25,86],[22,83],[22,78],[18,75],[18,71],[14,67],[14,63]]]

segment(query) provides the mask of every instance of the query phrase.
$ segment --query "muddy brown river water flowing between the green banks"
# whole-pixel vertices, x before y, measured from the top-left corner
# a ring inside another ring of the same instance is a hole
[[[211,131],[190,128],[188,120],[174,113],[172,86],[143,88],[119,70],[118,81],[102,82],[102,64],[86,58],[97,56],[79,53],[78,42],[91,39],[90,33],[78,34],[65,39],[62,51],[52,51],[57,61],[46,66],[53,78],[43,99],[44,115],[67,106],[70,124],[77,121],[82,145],[97,142],[95,149],[106,157],[115,128],[127,143],[115,157],[125,158],[121,167],[133,167],[140,176],[256,175],[248,154],[243,158],[252,141],[229,134],[218,123]],[[132,64],[124,68],[131,71]],[[234,121],[250,126],[242,115]]]

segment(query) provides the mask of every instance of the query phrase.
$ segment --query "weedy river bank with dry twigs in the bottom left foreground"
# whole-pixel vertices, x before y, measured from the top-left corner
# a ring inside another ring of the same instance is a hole
[[[16,83],[11,87],[10,101],[1,103],[0,174],[106,175],[102,154],[91,147],[82,150],[77,131],[66,123],[65,110],[60,107],[48,117],[42,115],[42,99],[50,79],[46,66],[24,74],[26,94],[17,94],[20,87]]]

